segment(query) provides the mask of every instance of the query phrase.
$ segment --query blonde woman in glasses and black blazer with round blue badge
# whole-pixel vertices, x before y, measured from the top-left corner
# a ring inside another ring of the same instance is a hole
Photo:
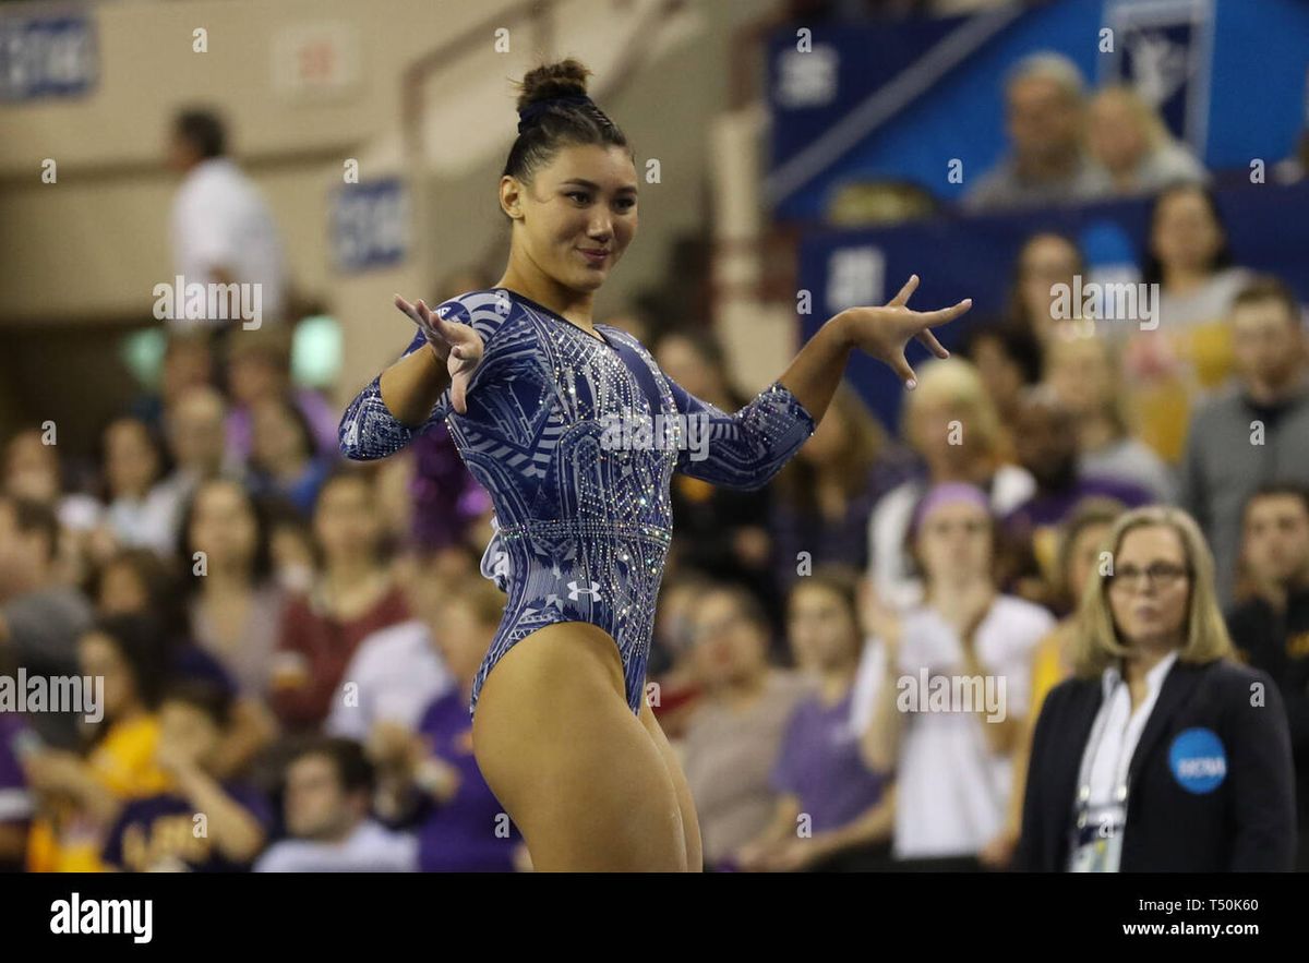
[[[1114,523],[1072,639],[1072,679],[1031,743],[1017,865],[1043,871],[1289,870],[1291,737],[1264,673],[1233,659],[1195,521]]]

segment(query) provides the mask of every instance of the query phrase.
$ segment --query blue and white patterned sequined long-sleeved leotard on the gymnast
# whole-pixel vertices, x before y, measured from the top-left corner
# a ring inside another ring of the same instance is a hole
[[[467,412],[454,412],[446,389],[424,424],[401,424],[382,403],[378,376],[346,410],[339,437],[347,458],[385,458],[445,420],[491,495],[497,531],[483,573],[508,601],[469,712],[511,646],[545,625],[588,622],[618,642],[627,704],[639,714],[673,535],[673,472],[759,488],[813,433],[813,419],[781,383],[728,415],[668,378],[624,331],[597,324],[602,339],[593,338],[504,288],[462,294],[437,311],[473,324],[483,340]],[[416,335],[404,355],[423,343]]]

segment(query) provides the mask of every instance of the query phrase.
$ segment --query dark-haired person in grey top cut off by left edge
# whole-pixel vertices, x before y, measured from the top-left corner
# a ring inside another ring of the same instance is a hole
[[[0,649],[30,675],[72,675],[77,639],[92,623],[90,603],[58,581],[59,521],[47,505],[0,495]],[[30,720],[42,741],[79,744],[76,717],[42,712]]]

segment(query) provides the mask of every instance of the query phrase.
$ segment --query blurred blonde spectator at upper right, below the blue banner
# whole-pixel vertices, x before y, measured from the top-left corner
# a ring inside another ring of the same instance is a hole
[[[1105,88],[1092,97],[1086,113],[1086,143],[1109,173],[1113,194],[1155,194],[1207,179],[1204,166],[1132,88]]]

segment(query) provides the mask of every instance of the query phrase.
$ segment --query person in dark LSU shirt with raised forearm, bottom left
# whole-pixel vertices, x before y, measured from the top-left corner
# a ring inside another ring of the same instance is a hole
[[[134,873],[250,869],[272,810],[254,789],[220,781],[216,764],[230,713],[232,693],[213,686],[178,683],[165,693],[156,759],[174,789],[123,807],[105,844],[106,866]]]

